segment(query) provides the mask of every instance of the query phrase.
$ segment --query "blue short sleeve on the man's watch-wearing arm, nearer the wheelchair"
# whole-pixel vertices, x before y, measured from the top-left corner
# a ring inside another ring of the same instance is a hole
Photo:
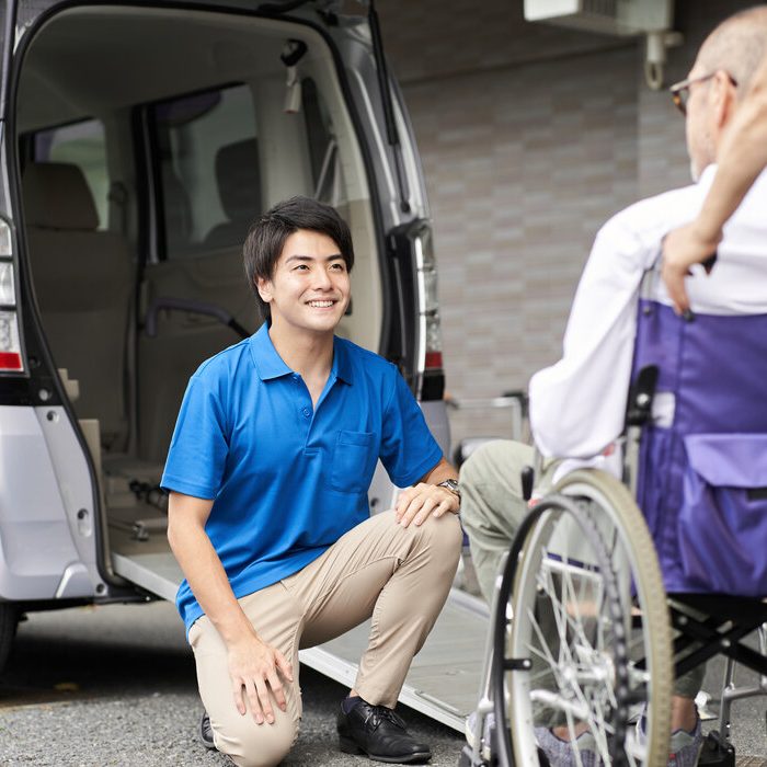
[[[442,459],[437,440],[400,373],[392,366],[393,391],[384,412],[380,459],[391,481],[407,488]]]

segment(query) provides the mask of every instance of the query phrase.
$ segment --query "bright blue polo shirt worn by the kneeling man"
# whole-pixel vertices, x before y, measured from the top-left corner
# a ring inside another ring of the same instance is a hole
[[[442,458],[397,368],[336,337],[313,408],[264,324],[192,376],[161,484],[214,500],[205,530],[242,597],[301,570],[369,516],[378,458],[399,486]],[[186,581],[176,605],[188,631],[203,610]]]

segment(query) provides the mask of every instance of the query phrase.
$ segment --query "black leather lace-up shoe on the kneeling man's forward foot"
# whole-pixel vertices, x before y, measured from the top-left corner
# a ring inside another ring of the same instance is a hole
[[[348,713],[342,708],[337,730],[345,754],[367,754],[375,762],[389,764],[420,764],[432,758],[432,749],[409,735],[404,722],[386,706],[360,700]]]

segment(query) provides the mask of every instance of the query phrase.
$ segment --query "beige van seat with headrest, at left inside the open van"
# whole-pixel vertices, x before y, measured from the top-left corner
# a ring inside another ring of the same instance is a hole
[[[102,445],[124,449],[130,250],[115,232],[96,230],[93,196],[77,165],[31,163],[22,186],[35,294],[56,365],[80,382],[78,417],[98,419]]]

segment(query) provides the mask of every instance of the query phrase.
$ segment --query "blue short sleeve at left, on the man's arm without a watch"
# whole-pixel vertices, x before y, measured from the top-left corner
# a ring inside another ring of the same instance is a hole
[[[181,403],[160,484],[213,500],[221,488],[228,453],[226,409],[217,382],[196,374]]]

